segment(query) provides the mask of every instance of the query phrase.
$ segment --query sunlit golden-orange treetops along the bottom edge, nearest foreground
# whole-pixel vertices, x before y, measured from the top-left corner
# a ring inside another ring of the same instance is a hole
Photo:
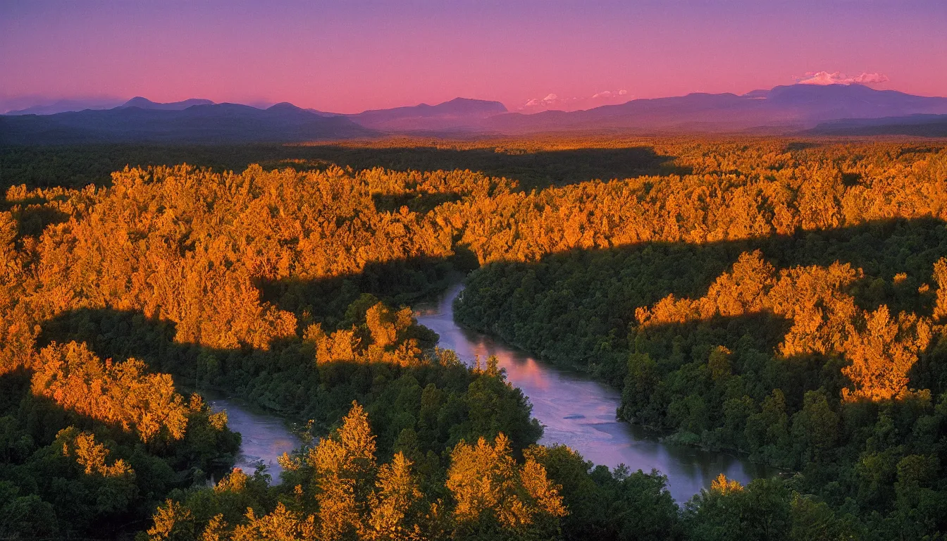
[[[412,462],[399,452],[378,465],[375,435],[365,410],[353,403],[333,434],[301,455],[281,461],[311,476],[308,489],[297,485],[295,509],[278,503],[268,514],[248,509],[239,524],[228,526],[215,514],[199,524],[180,503],[168,501],[153,516],[148,531],[154,541],[170,532],[203,532],[204,538],[248,539],[436,539],[473,535],[479,528],[527,535],[555,532],[567,514],[558,488],[542,464],[531,456],[512,459],[502,434],[493,444],[460,442],[451,453],[445,486],[452,500],[427,501]],[[248,477],[234,469],[214,492],[242,493]],[[441,508],[453,509],[442,515]],[[308,512],[307,510],[313,510]]]

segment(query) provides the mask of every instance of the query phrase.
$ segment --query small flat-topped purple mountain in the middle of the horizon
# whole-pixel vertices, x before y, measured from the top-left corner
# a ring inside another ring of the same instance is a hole
[[[361,126],[375,130],[420,131],[475,128],[484,118],[506,112],[507,108],[499,101],[456,98],[437,105],[421,103],[410,107],[366,111],[348,117]]]

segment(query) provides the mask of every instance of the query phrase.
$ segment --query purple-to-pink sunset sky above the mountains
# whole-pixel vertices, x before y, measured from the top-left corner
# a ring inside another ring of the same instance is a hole
[[[532,112],[806,79],[947,96],[945,27],[942,0],[0,0],[0,109],[464,97]]]

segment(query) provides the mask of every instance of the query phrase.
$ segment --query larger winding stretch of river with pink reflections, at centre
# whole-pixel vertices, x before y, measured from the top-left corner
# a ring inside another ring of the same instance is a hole
[[[661,443],[639,426],[618,423],[620,397],[615,389],[458,327],[452,304],[462,289],[457,285],[436,305],[421,307],[418,321],[440,335],[441,348],[454,350],[465,362],[473,362],[475,355],[484,361],[496,355],[509,382],[523,389],[533,405],[533,416],[545,426],[541,443],[564,443],[586,460],[610,467],[623,463],[632,471],[659,470],[668,476],[670,494],[678,502],[709,487],[721,473],[743,483],[774,473],[724,453]]]

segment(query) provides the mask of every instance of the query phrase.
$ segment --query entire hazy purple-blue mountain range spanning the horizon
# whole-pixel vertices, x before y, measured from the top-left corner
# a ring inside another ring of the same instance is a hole
[[[354,115],[301,109],[285,102],[259,109],[209,99],[155,103],[134,98],[106,110],[0,116],[0,143],[301,142],[392,133],[941,133],[938,125],[947,117],[919,115],[947,115],[947,98],[874,90],[861,84],[795,84],[742,96],[697,93],[532,115],[510,113],[499,101],[463,98]],[[877,120],[883,118],[889,120]],[[899,125],[908,128],[890,127]]]

